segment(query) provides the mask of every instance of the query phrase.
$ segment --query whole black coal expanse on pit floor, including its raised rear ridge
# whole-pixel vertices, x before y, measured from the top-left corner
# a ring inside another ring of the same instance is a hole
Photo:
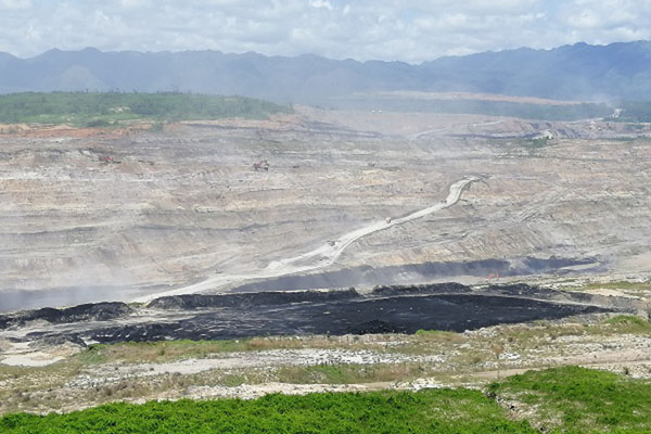
[[[592,303],[593,302],[593,303]],[[382,286],[370,294],[345,291],[267,292],[258,294],[179,295],[143,308],[97,305],[36,315],[49,324],[29,340],[146,342],[228,340],[265,335],[414,333],[419,329],[462,332],[499,323],[558,319],[578,314],[626,310],[584,294],[528,285],[471,289],[458,283]],[[101,309],[110,308],[107,315]],[[98,309],[100,311],[98,311]],[[52,309],[55,310],[55,309]],[[77,312],[77,310],[73,310]],[[33,311],[34,314],[35,311]],[[62,317],[63,315],[63,317]],[[22,314],[21,321],[27,320]],[[17,327],[5,323],[4,327]]]

